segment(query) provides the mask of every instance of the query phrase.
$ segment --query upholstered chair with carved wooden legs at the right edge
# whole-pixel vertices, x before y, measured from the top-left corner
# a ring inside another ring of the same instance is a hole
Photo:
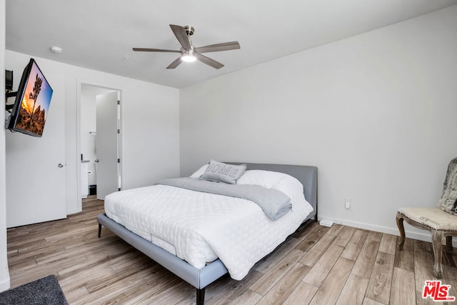
[[[443,238],[446,237],[445,251],[452,254],[452,236],[457,236],[457,158],[449,163],[439,207],[408,207],[398,210],[396,216],[398,230],[400,231],[398,250],[403,250],[406,238],[403,220],[411,226],[430,231],[433,255],[435,256],[433,275],[441,279],[443,277],[441,264]]]

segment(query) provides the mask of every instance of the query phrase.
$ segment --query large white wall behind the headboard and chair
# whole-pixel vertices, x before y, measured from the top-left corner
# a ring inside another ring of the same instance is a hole
[[[457,156],[456,32],[452,6],[181,89],[181,174],[316,165],[319,218],[397,234]]]

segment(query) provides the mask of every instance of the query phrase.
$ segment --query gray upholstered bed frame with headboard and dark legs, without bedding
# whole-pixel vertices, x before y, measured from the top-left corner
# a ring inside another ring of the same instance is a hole
[[[241,164],[238,162],[227,162],[230,164]],[[247,163],[247,170],[250,169],[263,169],[266,171],[279,171],[289,174],[303,184],[304,195],[306,200],[313,206],[314,211],[303,219],[303,224],[308,221],[317,221],[317,167],[316,166],[303,166],[303,165],[284,165],[284,164],[256,164]],[[186,261],[179,259],[168,251],[162,249],[150,241],[129,231],[124,226],[109,219],[106,214],[99,214],[97,216],[99,222],[99,238],[101,236],[101,226],[105,226],[114,234],[124,239],[127,243],[134,246],[142,253],[149,256],[157,263],[164,266],[169,271],[179,276],[184,281],[187,281],[192,286],[196,287],[196,304],[204,304],[205,287],[211,284],[216,279],[226,274],[228,271],[220,259],[216,259],[211,264],[204,266],[202,269],[196,269]]]

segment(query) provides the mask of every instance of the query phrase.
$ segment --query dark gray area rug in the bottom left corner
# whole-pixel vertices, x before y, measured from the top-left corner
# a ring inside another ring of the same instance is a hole
[[[56,276],[43,279],[0,293],[0,305],[68,305]]]

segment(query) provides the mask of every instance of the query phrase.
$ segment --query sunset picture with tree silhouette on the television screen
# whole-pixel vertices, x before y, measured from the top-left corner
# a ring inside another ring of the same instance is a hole
[[[16,128],[42,135],[52,96],[47,83],[35,63],[31,67],[26,90],[22,98]]]

